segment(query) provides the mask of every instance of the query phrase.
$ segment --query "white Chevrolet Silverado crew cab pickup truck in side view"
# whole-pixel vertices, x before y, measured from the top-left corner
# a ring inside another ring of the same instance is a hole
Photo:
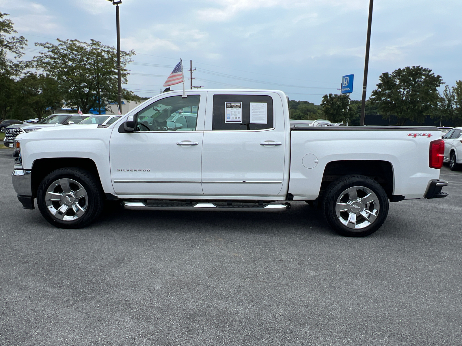
[[[12,181],[25,209],[85,227],[126,209],[282,211],[306,201],[346,236],[375,232],[389,201],[446,197],[436,127],[291,127],[274,90],[157,95],[112,125],[21,133]]]

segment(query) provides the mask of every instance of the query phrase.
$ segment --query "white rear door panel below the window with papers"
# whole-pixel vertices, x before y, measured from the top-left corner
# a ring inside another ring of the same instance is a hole
[[[207,196],[275,196],[284,178],[284,132],[205,132],[202,189]],[[281,145],[261,145],[274,141]]]

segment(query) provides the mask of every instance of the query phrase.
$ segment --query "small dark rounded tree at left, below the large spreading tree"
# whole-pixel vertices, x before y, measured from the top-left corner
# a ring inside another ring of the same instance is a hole
[[[50,108],[62,105],[62,94],[54,78],[30,72],[18,81],[17,87],[17,109],[29,108],[39,120]]]

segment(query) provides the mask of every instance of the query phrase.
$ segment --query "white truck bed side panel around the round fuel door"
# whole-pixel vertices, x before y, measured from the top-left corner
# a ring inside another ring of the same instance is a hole
[[[429,167],[432,140],[439,130],[427,130],[431,137],[409,137],[411,130],[310,130],[291,131],[291,168],[289,192],[295,200],[314,200],[321,188],[328,162],[343,160],[389,161],[393,167],[394,195],[406,199],[422,198],[429,181],[439,179],[439,169]],[[302,164],[303,157],[314,154],[314,168]]]

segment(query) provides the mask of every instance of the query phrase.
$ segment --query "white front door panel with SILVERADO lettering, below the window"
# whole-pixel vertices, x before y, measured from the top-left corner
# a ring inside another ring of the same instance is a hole
[[[118,133],[110,141],[117,194],[201,196],[202,131]],[[177,145],[180,142],[197,145]]]

